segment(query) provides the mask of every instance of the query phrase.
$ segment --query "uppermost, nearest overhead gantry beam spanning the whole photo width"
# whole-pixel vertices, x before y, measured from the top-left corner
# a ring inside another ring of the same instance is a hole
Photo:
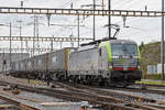
[[[162,11],[110,10],[110,13],[109,13],[109,10],[0,7],[0,13],[64,14],[64,15],[113,15],[113,16],[156,18],[156,16],[162,16],[163,12]]]

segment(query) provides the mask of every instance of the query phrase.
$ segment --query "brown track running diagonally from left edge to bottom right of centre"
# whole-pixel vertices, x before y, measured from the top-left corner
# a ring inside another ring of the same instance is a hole
[[[3,86],[7,85],[13,85],[10,82],[0,82]],[[122,100],[117,100],[113,98],[107,98],[107,97],[96,97],[95,95],[89,95],[89,94],[80,94],[80,92],[74,92],[74,91],[64,91],[64,90],[53,90],[48,88],[33,88],[33,87],[26,87],[22,85],[18,85],[20,89],[31,91],[31,92],[37,92],[37,94],[44,94],[51,97],[56,97],[69,101],[89,101],[90,103],[97,103],[97,105],[102,105],[105,108],[118,108],[118,109],[127,109],[127,110],[134,110],[131,107],[125,107]],[[105,101],[103,101],[105,100]],[[114,103],[118,102],[118,103]],[[119,103],[120,102],[120,103]],[[108,109],[109,110],[109,109]]]

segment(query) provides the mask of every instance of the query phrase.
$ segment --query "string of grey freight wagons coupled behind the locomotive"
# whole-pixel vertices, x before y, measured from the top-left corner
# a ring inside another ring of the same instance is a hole
[[[51,53],[11,63],[10,74],[15,77],[64,79],[67,77],[68,55],[74,48],[66,47]]]

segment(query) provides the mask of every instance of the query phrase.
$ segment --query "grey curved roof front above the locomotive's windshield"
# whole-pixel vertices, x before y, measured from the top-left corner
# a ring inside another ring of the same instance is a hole
[[[111,40],[111,44],[136,44],[134,41],[131,40]]]

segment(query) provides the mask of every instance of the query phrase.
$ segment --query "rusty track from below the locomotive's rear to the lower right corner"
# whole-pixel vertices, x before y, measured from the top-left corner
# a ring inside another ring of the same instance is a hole
[[[124,102],[128,101],[128,102],[138,102],[138,103],[144,103],[144,105],[147,105],[147,103],[156,103],[156,105],[163,105],[163,106],[165,105],[164,101],[158,101],[158,100],[154,100],[154,99],[150,99],[150,98],[143,98],[143,97],[139,97],[139,96],[117,94],[114,91],[109,91],[109,90],[105,90],[105,89],[102,90],[102,88],[95,88],[95,87],[91,87],[91,86],[88,87],[88,86],[84,86],[84,85],[73,85],[73,84],[68,84],[68,82],[65,84],[65,85],[63,82],[56,82],[56,84],[65,86],[66,88],[68,88],[70,90],[77,90],[77,91],[81,91],[82,90],[84,92],[90,92],[90,94],[95,94],[95,95],[102,95],[102,96],[114,97],[117,99],[124,100]],[[111,88],[111,89],[128,90],[127,88]],[[130,88],[129,90],[136,91],[133,88],[132,89]],[[138,89],[138,91],[140,91],[140,89]]]

